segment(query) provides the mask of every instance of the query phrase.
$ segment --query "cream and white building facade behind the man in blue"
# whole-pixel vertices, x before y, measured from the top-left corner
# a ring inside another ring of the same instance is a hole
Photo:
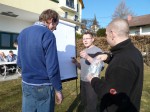
[[[0,0],[0,50],[15,50],[13,42],[26,27],[38,21],[45,9],[53,9],[60,21],[73,24],[80,33],[82,0]]]

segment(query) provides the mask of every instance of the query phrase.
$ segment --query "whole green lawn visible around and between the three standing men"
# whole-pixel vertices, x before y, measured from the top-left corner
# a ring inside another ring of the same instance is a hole
[[[102,72],[104,75],[104,71]],[[64,100],[55,112],[76,112],[80,103],[80,79],[63,82]],[[21,79],[0,82],[0,112],[21,112]],[[145,66],[141,111],[150,112],[150,67]]]

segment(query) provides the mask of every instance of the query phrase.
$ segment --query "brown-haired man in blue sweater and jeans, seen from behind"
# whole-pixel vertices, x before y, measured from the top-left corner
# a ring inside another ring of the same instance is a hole
[[[22,112],[54,112],[61,104],[56,39],[53,31],[59,22],[57,12],[47,9],[39,22],[24,29],[18,37],[17,64],[22,69]]]

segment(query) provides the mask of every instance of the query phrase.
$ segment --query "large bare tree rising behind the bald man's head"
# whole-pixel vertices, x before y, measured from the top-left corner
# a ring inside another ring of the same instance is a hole
[[[124,0],[120,2],[120,4],[116,7],[114,14],[112,15],[112,19],[122,18],[127,19],[127,16],[134,16],[134,13],[126,6]]]

